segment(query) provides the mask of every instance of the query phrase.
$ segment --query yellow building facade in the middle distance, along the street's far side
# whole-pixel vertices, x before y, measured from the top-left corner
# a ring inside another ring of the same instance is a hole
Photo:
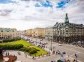
[[[25,35],[30,37],[32,36],[32,37],[44,38],[45,28],[35,28],[35,29],[25,30]]]

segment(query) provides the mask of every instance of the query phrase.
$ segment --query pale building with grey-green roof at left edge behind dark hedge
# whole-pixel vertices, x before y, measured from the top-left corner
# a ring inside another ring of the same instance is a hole
[[[0,40],[18,37],[19,33],[16,29],[0,28]]]

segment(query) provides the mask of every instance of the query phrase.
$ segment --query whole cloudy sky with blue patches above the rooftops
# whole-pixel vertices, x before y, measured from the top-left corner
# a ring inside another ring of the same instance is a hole
[[[0,27],[18,30],[54,26],[64,22],[84,24],[84,0],[0,0]]]

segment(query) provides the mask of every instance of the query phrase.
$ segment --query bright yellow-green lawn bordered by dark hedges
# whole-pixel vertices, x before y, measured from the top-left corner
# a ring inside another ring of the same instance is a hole
[[[36,49],[38,49],[39,51],[36,54],[33,54],[33,56],[42,56],[42,55],[46,55],[47,51],[45,51],[44,49],[41,49],[40,47],[37,47],[35,45],[32,45],[31,43],[25,41],[25,40],[18,40],[18,41],[13,41],[13,42],[7,42],[7,43],[0,43],[1,45],[4,44],[8,44],[8,45],[13,45],[13,44],[23,44],[23,47],[34,47]]]

